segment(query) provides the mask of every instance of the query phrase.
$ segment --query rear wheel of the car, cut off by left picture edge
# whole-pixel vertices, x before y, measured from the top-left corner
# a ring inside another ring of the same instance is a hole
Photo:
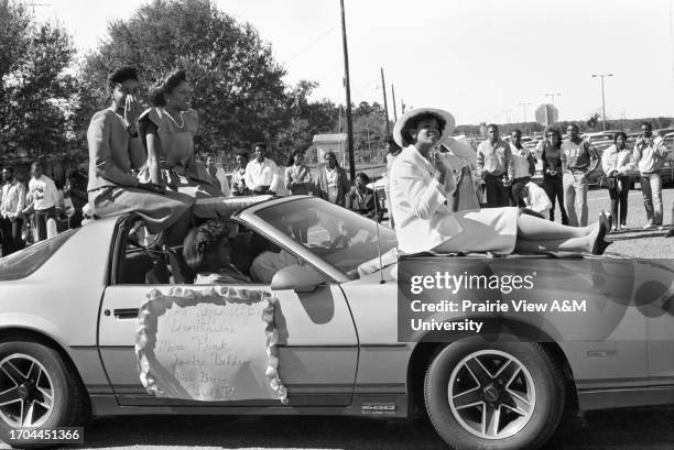
[[[41,342],[0,342],[0,393],[10,400],[0,402],[0,433],[12,447],[50,447],[34,440],[10,439],[19,426],[81,427],[90,414],[75,369],[58,351]]]

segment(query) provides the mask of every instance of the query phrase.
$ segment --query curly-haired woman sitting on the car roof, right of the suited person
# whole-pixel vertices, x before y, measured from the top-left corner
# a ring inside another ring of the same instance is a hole
[[[192,197],[219,197],[222,191],[195,158],[194,136],[198,113],[189,109],[185,70],[176,70],[150,91],[152,108],[138,120],[148,161],[140,171],[141,182],[151,182]]]

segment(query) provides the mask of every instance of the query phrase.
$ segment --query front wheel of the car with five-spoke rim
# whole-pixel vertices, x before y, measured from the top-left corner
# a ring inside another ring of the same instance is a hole
[[[436,353],[424,397],[431,422],[455,449],[535,449],[559,422],[565,384],[537,343],[471,338]]]

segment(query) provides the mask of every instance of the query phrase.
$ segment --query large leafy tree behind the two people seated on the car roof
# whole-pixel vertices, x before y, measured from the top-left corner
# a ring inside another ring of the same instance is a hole
[[[94,111],[109,102],[106,76],[122,65],[137,67],[144,86],[172,69],[187,70],[192,107],[200,121],[197,151],[231,154],[256,141],[280,139],[285,145],[297,134],[304,142],[302,133],[313,129],[302,120],[312,120],[306,96],[314,86],[287,87],[285,70],[256,29],[209,0],[153,0],[128,21],[110,22],[108,34],[81,68],[80,78],[87,80],[78,111],[83,129]],[[269,150],[273,155],[275,149]]]

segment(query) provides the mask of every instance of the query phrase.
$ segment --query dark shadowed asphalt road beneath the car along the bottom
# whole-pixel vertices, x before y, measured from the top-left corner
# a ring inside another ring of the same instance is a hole
[[[546,450],[672,450],[674,407],[588,413],[566,418]],[[427,421],[356,417],[102,418],[85,432],[86,448],[439,450]],[[84,447],[83,447],[84,448]]]

